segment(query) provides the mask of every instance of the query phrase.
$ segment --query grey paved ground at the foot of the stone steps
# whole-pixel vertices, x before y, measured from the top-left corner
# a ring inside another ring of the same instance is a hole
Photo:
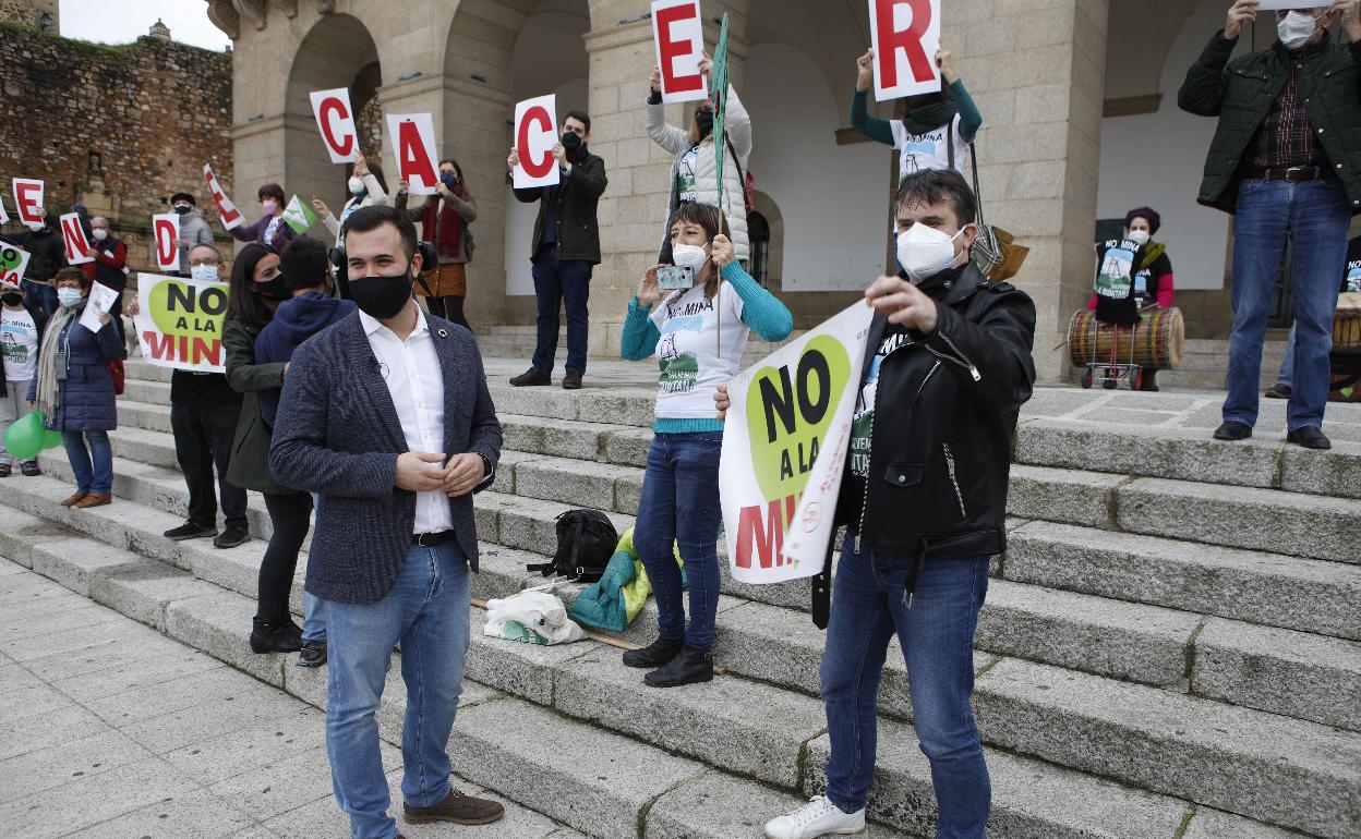
[[[0,559],[5,839],[348,836],[331,797],[324,722],[317,708]],[[400,808],[401,753],[385,742],[382,755]],[[506,819],[460,827],[460,839],[578,836],[502,804]],[[399,828],[408,839],[449,835]]]

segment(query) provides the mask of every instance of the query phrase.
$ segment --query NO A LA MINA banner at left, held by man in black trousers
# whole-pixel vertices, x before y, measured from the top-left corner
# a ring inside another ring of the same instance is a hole
[[[132,322],[144,359],[157,367],[226,373],[226,283],[137,273],[137,306]]]

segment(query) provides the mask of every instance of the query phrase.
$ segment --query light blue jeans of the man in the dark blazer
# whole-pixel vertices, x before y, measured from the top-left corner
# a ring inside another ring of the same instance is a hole
[[[401,642],[407,717],[401,730],[401,794],[412,806],[449,794],[449,730],[463,691],[468,651],[468,562],[457,543],[411,547],[397,581],[374,604],[325,601],[327,753],[336,802],[352,839],[392,839],[388,781],[374,713]]]

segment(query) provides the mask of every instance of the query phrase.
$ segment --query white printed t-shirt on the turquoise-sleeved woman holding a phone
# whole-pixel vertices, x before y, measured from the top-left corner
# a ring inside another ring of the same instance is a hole
[[[713,392],[736,375],[751,333],[742,322],[742,296],[723,283],[705,299],[704,286],[695,286],[663,299],[648,318],[661,333],[657,419],[713,417]]]

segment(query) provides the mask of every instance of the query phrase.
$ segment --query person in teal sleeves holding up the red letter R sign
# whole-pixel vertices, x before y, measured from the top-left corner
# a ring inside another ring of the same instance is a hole
[[[908,97],[908,113],[898,121],[871,117],[870,86],[874,83],[874,50],[856,60],[855,97],[851,99],[851,128],[871,140],[898,150],[898,179],[924,169],[954,169],[965,174],[973,139],[983,126],[983,114],[964,80],[954,71],[949,50],[936,50],[936,65],[945,79],[938,94]],[[968,175],[966,175],[968,177]]]

